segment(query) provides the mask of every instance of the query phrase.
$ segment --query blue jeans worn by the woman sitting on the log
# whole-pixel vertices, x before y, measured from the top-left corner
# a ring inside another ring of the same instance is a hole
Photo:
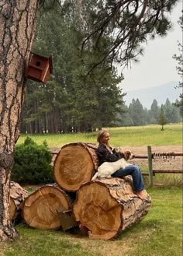
[[[116,170],[114,174],[112,174],[112,177],[125,177],[127,175],[131,175],[133,179],[133,190],[134,191],[141,191],[144,189],[143,184],[143,176],[140,172],[140,168],[133,164],[129,165],[128,167],[125,167],[124,169],[120,168],[119,170]]]

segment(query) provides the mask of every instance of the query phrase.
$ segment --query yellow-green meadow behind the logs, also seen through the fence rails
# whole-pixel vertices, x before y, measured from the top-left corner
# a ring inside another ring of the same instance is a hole
[[[147,146],[159,147],[164,146],[164,152],[174,152],[173,146],[178,146],[178,153],[181,153],[180,147],[182,146],[182,124],[167,124],[164,125],[164,131],[161,131],[161,125],[152,124],[147,126],[136,127],[119,127],[119,128],[105,128],[110,132],[110,145],[122,146],[123,148],[133,147],[133,152],[136,153],[136,147],[146,147],[145,155],[147,155]],[[60,148],[67,143],[71,142],[88,142],[97,143],[98,132],[90,133],[73,133],[73,134],[57,134],[57,135],[21,135],[17,144],[24,142],[26,136],[29,136],[36,143],[42,144],[44,141],[50,148]],[[157,149],[158,152],[158,149]],[[176,152],[176,150],[175,150]],[[138,153],[137,153],[138,154]],[[139,153],[142,155],[142,153]],[[144,155],[143,154],[143,155]],[[158,162],[160,163],[160,162]],[[158,165],[156,163],[156,165]],[[182,160],[174,161],[174,169],[180,169]],[[138,164],[142,171],[148,171],[147,160],[139,161]],[[164,169],[166,163],[161,162],[161,167],[157,166],[157,169]],[[154,177],[156,183],[161,184],[182,184],[181,174],[158,174]],[[146,178],[146,180],[148,180]],[[148,181],[147,181],[148,183]]]

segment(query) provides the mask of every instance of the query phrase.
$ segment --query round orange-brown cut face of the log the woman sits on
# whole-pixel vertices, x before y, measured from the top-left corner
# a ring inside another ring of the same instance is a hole
[[[84,204],[82,204],[83,196],[85,196]],[[78,190],[77,202],[74,203],[74,216],[77,221],[81,221],[82,226],[91,230],[89,237],[95,234],[95,238],[102,237],[109,240],[116,236],[122,226],[120,218],[122,209],[123,206],[110,195],[109,188],[95,182],[89,186],[83,185]]]

